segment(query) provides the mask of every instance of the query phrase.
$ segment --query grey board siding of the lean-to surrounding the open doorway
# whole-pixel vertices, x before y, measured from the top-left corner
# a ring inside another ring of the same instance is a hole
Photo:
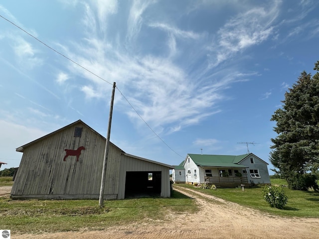
[[[131,157],[122,154],[119,180],[118,199],[125,198],[125,180],[126,172],[161,172],[161,197],[170,197],[170,184],[169,184],[169,168],[163,165],[148,162],[139,158]],[[139,183],[139,182],[136,182]]]

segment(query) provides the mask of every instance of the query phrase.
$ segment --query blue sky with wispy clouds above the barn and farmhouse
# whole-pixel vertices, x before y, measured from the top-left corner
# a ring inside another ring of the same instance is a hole
[[[78,119],[106,136],[113,82],[110,138],[125,152],[176,165],[255,142],[269,162],[271,116],[319,60],[318,12],[317,0],[3,0],[2,17],[95,75],[0,17],[1,169]]]

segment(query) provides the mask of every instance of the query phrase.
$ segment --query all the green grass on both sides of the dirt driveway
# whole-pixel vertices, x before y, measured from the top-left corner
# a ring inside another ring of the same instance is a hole
[[[0,186],[8,186],[10,178],[0,177]],[[287,185],[282,179],[271,179],[272,185]],[[9,184],[11,185],[11,184]],[[288,204],[284,210],[271,208],[264,200],[262,188],[200,189],[178,184],[243,206],[275,215],[319,218],[319,192],[304,192],[284,188]],[[15,234],[104,230],[111,226],[140,223],[160,223],[170,213],[194,213],[195,201],[176,191],[171,198],[139,198],[105,201],[98,200],[11,200],[0,197],[0,225]]]

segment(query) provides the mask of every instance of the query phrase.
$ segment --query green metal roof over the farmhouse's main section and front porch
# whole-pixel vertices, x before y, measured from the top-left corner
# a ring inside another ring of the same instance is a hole
[[[188,154],[197,166],[207,167],[233,167],[243,168],[245,165],[237,164],[246,158],[250,153],[243,155],[209,155],[209,154]]]

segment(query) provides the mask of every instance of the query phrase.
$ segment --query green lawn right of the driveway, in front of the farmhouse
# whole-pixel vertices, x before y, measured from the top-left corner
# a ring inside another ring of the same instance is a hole
[[[271,179],[273,186],[287,185],[283,179]],[[178,184],[178,186],[188,187],[209,195],[213,195],[224,200],[238,203],[243,206],[258,209],[263,212],[289,217],[313,217],[319,218],[319,192],[305,192],[290,190],[284,187],[288,196],[288,203],[283,210],[271,208],[264,200],[261,187],[245,188],[222,188],[222,189],[201,189],[191,185]]]

